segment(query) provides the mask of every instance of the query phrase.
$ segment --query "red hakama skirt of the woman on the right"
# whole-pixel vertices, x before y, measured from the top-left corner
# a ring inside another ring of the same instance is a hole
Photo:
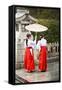
[[[46,46],[41,46],[41,49],[40,49],[39,70],[40,71],[47,70],[47,48],[46,48]]]

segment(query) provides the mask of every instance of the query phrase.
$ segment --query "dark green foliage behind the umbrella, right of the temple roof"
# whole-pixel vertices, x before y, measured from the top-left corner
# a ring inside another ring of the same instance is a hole
[[[38,23],[48,27],[45,32],[37,33],[39,39],[40,34],[44,34],[48,42],[59,41],[59,17],[60,10],[58,8],[29,8],[30,15],[38,19]],[[35,37],[35,33],[32,32]]]

